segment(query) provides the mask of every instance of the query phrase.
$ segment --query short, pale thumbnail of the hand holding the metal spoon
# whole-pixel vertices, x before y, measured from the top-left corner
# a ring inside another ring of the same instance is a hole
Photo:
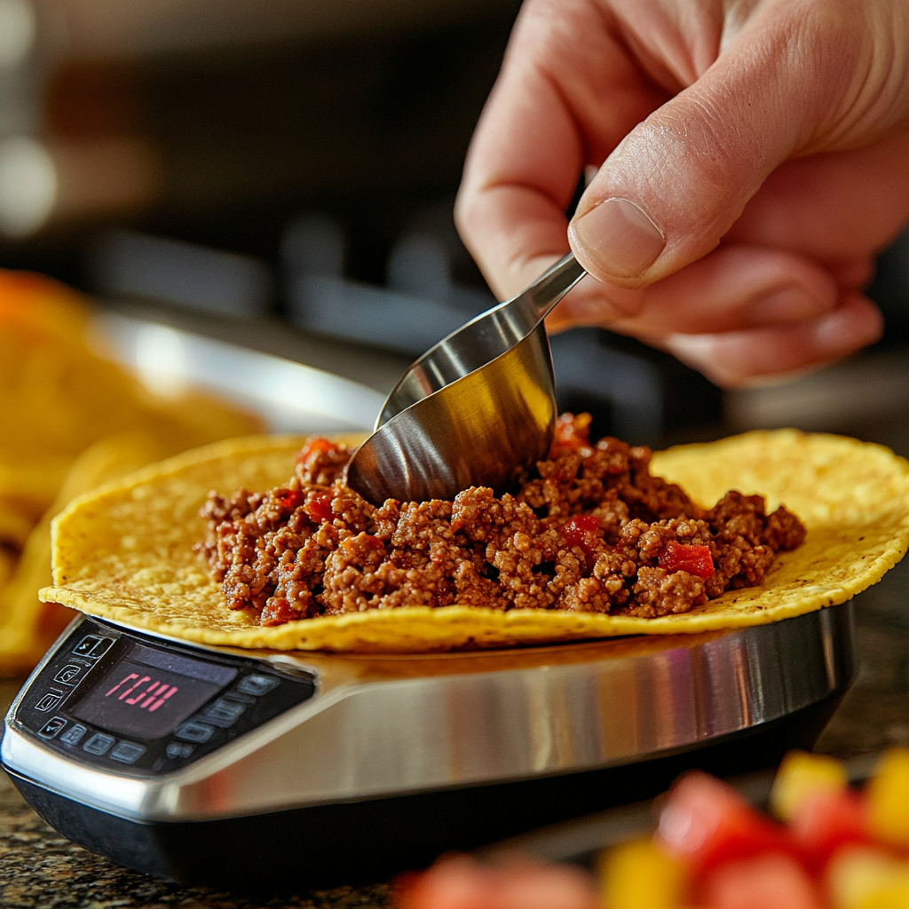
[[[606,199],[575,218],[571,232],[596,265],[615,277],[640,275],[666,245],[660,228],[628,199]]]

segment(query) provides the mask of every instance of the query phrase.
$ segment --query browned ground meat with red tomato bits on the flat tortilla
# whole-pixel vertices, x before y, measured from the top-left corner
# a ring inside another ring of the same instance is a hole
[[[264,625],[316,615],[461,604],[636,615],[684,613],[760,584],[804,540],[784,507],[729,492],[713,508],[648,471],[649,448],[592,445],[563,415],[549,460],[517,494],[369,504],[344,484],[350,452],[310,440],[265,493],[212,492],[200,545],[230,609]]]

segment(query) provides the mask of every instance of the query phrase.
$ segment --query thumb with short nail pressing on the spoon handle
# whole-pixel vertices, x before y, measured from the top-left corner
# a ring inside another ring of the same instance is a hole
[[[830,40],[824,29],[811,35],[776,14],[740,33],[594,176],[569,241],[595,277],[637,287],[706,255],[766,177],[815,142],[851,67],[843,55],[818,53],[814,42]]]

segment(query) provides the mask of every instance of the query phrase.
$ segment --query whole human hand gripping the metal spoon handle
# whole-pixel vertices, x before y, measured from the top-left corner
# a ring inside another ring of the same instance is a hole
[[[638,336],[721,385],[854,353],[909,220],[909,3],[526,0],[455,216],[503,298],[570,242],[593,277],[551,328]]]

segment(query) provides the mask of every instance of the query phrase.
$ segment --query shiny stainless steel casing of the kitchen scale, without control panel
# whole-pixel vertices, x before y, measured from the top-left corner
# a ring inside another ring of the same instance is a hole
[[[634,764],[842,692],[854,671],[852,610],[494,653],[252,652],[314,673],[315,697],[184,770],[112,784],[110,774],[62,764],[9,721],[3,757],[37,784],[65,772],[69,797],[84,804],[167,821]]]

